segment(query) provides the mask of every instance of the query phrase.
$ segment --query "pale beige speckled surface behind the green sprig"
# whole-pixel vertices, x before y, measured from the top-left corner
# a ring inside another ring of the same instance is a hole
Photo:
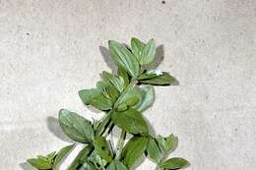
[[[77,91],[110,70],[99,46],[131,36],[163,44],[160,70],[180,82],[145,114],[179,137],[173,156],[188,170],[256,169],[255,0],[0,0],[1,170],[67,143],[60,108],[98,117]]]

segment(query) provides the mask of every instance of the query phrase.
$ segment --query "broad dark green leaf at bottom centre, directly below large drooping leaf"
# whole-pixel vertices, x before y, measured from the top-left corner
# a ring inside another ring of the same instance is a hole
[[[125,144],[121,152],[121,159],[128,169],[131,169],[137,161],[140,161],[140,158],[147,148],[148,142],[149,139],[147,137],[133,137]]]

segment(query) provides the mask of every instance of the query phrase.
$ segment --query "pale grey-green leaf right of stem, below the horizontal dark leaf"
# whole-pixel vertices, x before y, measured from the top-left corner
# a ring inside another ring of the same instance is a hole
[[[141,89],[143,90],[143,97],[136,109],[143,112],[153,105],[155,101],[155,89],[152,85],[144,85]]]

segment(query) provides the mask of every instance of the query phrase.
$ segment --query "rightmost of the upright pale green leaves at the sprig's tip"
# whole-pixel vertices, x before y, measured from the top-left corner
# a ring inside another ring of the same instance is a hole
[[[144,47],[141,59],[139,60],[141,65],[147,65],[154,61],[156,55],[156,44],[154,39],[151,39]]]

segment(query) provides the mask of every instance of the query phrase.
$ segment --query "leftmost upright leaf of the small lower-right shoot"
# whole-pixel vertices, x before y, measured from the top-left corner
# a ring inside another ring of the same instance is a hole
[[[160,163],[160,159],[161,159],[160,146],[158,142],[153,138],[151,138],[149,141],[147,153],[156,163]]]

